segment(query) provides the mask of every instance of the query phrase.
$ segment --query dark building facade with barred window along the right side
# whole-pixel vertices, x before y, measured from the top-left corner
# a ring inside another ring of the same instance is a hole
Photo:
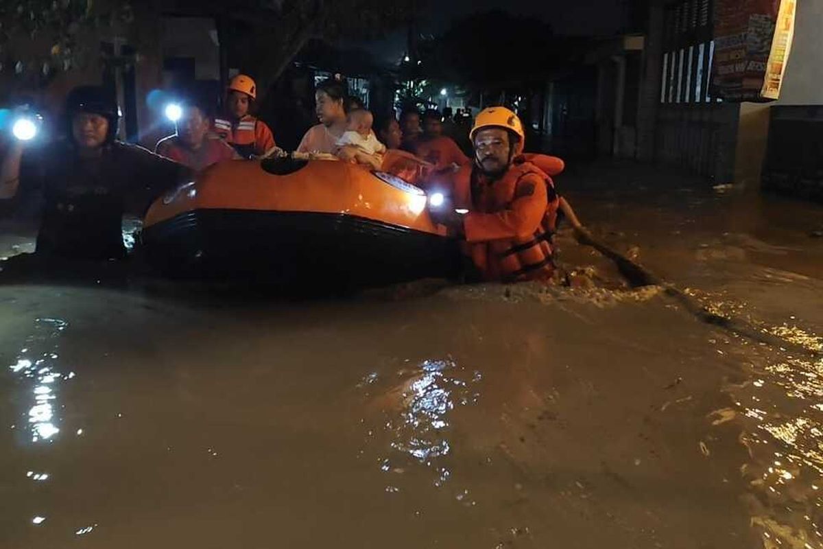
[[[549,150],[678,166],[716,184],[821,186],[823,2],[797,2],[783,89],[767,103],[712,96],[714,0],[638,3],[634,33],[601,40],[582,66],[552,78]]]

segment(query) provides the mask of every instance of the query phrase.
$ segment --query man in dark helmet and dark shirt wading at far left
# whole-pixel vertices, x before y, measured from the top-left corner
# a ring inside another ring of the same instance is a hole
[[[64,116],[61,140],[25,154],[22,142],[0,147],[7,150],[0,164],[0,199],[14,198],[21,186],[42,191],[38,256],[123,258],[127,207],[145,209],[151,198],[188,177],[188,169],[117,141],[119,107],[100,87],[73,90]]]

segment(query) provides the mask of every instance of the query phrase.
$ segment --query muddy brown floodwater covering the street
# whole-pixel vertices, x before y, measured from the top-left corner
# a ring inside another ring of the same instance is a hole
[[[659,177],[566,181],[611,244],[809,353],[567,233],[593,284],[0,286],[0,547],[823,547],[821,210]]]

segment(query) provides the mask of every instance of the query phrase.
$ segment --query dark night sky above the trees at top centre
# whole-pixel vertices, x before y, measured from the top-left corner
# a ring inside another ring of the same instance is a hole
[[[390,1],[390,0],[389,0]],[[455,17],[503,9],[548,21],[559,35],[614,35],[621,30],[626,0],[425,0],[418,16],[421,33],[439,34]],[[406,30],[364,44],[379,58],[395,63],[406,49]]]

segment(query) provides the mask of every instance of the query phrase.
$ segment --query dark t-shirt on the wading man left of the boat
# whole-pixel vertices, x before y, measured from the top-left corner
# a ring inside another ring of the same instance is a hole
[[[190,174],[137,145],[114,142],[92,159],[66,142],[27,151],[21,186],[43,193],[37,253],[81,259],[122,258],[127,207],[143,213],[152,198]]]

